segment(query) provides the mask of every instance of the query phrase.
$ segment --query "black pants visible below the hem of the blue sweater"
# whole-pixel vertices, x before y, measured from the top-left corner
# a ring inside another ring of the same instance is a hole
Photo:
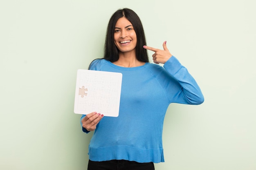
[[[154,163],[138,163],[126,160],[91,161],[88,170],[155,170]]]

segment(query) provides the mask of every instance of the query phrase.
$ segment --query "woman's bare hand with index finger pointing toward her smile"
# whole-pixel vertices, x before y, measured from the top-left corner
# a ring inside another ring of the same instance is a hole
[[[163,47],[164,47],[164,50],[155,49],[155,48],[150,47],[150,46],[143,46],[144,49],[155,52],[152,55],[152,57],[153,57],[153,62],[156,63],[156,64],[159,64],[159,63],[164,64],[172,56],[170,51],[167,49],[166,41],[164,42]]]

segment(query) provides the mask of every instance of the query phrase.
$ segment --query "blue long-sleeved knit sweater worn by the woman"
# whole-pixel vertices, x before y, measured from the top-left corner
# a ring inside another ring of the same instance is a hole
[[[90,141],[89,159],[164,162],[162,130],[166,110],[170,103],[204,101],[195,79],[174,56],[164,67],[146,63],[127,68],[101,59],[94,60],[90,69],[118,72],[123,77],[119,116],[101,119]]]

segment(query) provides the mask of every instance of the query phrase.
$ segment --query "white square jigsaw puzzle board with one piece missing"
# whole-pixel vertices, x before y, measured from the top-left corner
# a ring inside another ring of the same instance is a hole
[[[92,112],[117,117],[121,95],[122,74],[79,69],[76,77],[74,113]]]

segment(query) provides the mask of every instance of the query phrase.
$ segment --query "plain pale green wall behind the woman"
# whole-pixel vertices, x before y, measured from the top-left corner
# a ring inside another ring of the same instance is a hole
[[[148,46],[167,41],[205,97],[170,105],[156,170],[255,170],[254,0],[1,1],[0,169],[87,169],[92,133],[73,112],[76,71],[103,56],[108,20],[124,7]]]

